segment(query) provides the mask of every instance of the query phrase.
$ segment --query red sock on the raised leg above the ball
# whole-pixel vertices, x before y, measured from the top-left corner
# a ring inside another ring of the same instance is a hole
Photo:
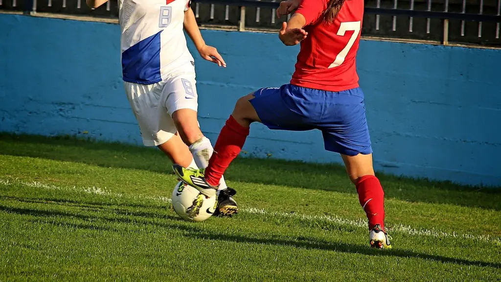
[[[241,126],[232,115],[226,120],[219,137],[217,137],[214,153],[205,169],[205,180],[208,184],[217,186],[224,171],[228,168],[242,150],[245,139],[249,134],[249,127]]]

